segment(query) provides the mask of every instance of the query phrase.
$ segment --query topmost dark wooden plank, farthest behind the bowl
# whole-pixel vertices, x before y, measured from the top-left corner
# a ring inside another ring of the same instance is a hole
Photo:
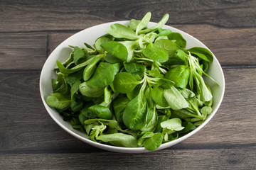
[[[255,27],[256,1],[1,1],[0,32],[82,30],[99,23],[142,19],[148,11],[158,22],[208,23],[221,27]]]

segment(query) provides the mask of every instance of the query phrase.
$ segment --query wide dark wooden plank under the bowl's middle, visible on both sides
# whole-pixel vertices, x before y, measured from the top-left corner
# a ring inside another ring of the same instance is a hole
[[[255,69],[224,69],[224,73],[226,90],[219,111],[206,127],[171,148],[255,144]],[[50,118],[41,101],[39,76],[40,72],[0,74],[0,152],[92,151],[93,147],[69,135]]]

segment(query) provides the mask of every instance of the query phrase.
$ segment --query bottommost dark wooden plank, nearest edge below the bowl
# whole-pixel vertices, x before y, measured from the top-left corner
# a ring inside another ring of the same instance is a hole
[[[164,149],[146,154],[1,154],[4,169],[255,169],[256,147]],[[1,169],[1,168],[0,168]]]

